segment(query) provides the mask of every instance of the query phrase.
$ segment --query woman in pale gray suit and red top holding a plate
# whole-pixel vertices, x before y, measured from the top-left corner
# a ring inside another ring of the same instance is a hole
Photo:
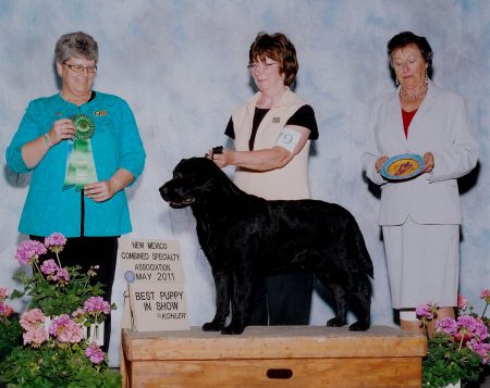
[[[478,143],[463,98],[429,79],[432,50],[425,37],[397,34],[388,54],[399,87],[372,108],[363,163],[381,187],[392,305],[402,329],[421,333],[415,314],[420,304],[439,305],[438,320],[454,317],[462,223],[456,179],[475,167]],[[389,158],[404,153],[421,155],[421,173],[405,180],[383,177]]]

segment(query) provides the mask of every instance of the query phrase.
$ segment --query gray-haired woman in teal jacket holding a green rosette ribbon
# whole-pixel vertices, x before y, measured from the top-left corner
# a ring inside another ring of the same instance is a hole
[[[7,162],[16,173],[32,172],[19,230],[40,241],[62,233],[62,265],[98,265],[110,299],[118,237],[132,230],[124,188],[142,174],[145,151],[127,103],[91,89],[97,60],[89,35],[58,40],[61,92],[29,103]],[[107,340],[108,333],[106,326]]]

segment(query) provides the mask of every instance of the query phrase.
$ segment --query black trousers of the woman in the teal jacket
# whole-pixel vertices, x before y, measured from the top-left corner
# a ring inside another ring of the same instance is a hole
[[[30,239],[44,242],[40,236],[30,236]],[[54,253],[48,252],[46,259],[54,259]],[[112,284],[114,283],[115,263],[118,260],[118,237],[71,237],[68,238],[63,251],[60,253],[62,266],[79,265],[82,273],[93,265],[98,265],[97,276],[93,281],[103,285],[102,298],[111,301]],[[111,315],[109,314],[103,327],[105,351],[109,348],[111,335]]]

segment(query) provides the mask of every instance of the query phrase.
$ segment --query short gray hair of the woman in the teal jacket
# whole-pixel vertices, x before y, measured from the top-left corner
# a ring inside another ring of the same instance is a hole
[[[72,57],[94,60],[97,63],[99,47],[90,35],[83,32],[62,35],[57,41],[54,58],[57,62],[64,63]]]

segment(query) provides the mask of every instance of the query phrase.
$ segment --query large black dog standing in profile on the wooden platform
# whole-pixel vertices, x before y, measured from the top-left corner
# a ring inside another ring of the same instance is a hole
[[[243,333],[255,276],[298,268],[313,271],[333,291],[336,312],[327,326],[345,325],[347,303],[353,303],[358,321],[350,329],[369,328],[372,263],[356,221],[344,208],[247,195],[207,158],[182,160],[160,195],[172,208],[192,208],[211,264],[217,310],[204,330]],[[232,318],[225,327],[230,301]]]

